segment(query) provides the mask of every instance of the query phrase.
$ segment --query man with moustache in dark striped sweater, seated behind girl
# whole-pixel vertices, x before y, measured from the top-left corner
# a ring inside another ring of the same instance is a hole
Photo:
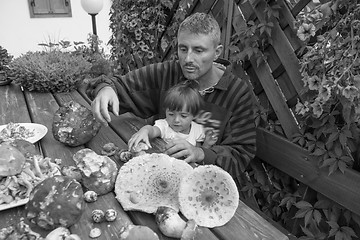
[[[195,13],[186,18],[177,40],[178,61],[152,64],[90,83],[87,94],[94,99],[93,113],[104,124],[111,121],[108,107],[115,115],[130,111],[142,118],[164,117],[161,103],[166,90],[181,81],[196,81],[205,102],[196,121],[212,132],[216,144],[207,149],[174,140],[166,145],[165,153],[186,162],[216,164],[237,178],[255,154],[251,90],[230,68],[214,62],[223,46],[219,25],[212,16]]]

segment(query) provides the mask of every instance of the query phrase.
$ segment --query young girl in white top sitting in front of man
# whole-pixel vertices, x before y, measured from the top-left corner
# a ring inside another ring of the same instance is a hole
[[[166,118],[156,120],[153,126],[146,125],[135,133],[128,142],[130,150],[140,142],[151,148],[149,140],[156,137],[165,141],[186,139],[194,146],[200,146],[201,142],[203,147],[215,144],[217,139],[211,133],[205,135],[203,126],[193,121],[202,102],[193,85],[193,81],[185,81],[168,90],[163,103]]]

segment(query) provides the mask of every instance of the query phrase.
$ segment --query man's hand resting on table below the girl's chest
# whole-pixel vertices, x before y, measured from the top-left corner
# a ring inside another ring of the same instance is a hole
[[[193,146],[184,139],[172,140],[166,144],[165,154],[171,157],[184,159],[185,162],[201,162],[204,160],[204,151],[201,148]]]

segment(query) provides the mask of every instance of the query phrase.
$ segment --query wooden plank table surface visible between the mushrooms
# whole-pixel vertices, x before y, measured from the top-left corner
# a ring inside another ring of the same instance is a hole
[[[46,136],[37,143],[37,147],[46,157],[60,158],[63,165],[74,165],[72,156],[82,148],[91,148],[100,153],[104,144],[113,142],[119,148],[127,148],[127,140],[137,131],[144,122],[130,114],[113,118],[109,127],[102,127],[99,133],[85,146],[67,147],[57,142],[52,135],[51,125],[53,114],[64,103],[74,100],[90,107],[89,99],[83,93],[83,89],[71,93],[37,93],[22,91],[20,87],[10,84],[0,86],[0,125],[9,122],[33,122],[45,125],[48,128]],[[157,140],[160,144],[161,141]],[[117,162],[121,167],[122,163]],[[102,235],[97,239],[118,239],[118,233],[123,226],[128,224],[146,225],[158,233],[160,239],[171,239],[161,234],[154,220],[154,215],[138,212],[125,212],[120,203],[115,199],[114,193],[110,192],[100,196],[98,201],[87,203],[85,212],[80,221],[70,227],[72,233],[78,234],[82,239],[90,239],[89,232],[94,227],[102,230]],[[115,222],[94,223],[91,220],[91,212],[94,209],[107,210],[113,208],[118,212]],[[8,225],[16,224],[23,217],[24,206],[2,211],[0,217],[0,229]],[[47,234],[41,229],[43,236]],[[242,201],[234,217],[224,226],[213,229],[200,228],[196,239],[203,240],[252,240],[274,239],[286,240],[288,237],[265,220],[262,216],[244,204]]]

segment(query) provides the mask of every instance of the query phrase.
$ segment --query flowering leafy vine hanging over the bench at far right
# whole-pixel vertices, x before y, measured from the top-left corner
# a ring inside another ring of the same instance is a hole
[[[353,0],[337,1],[325,6],[333,11],[329,16],[320,7],[300,15],[297,22],[297,34],[307,43],[300,59],[306,88],[296,106],[302,132],[294,142],[332,174],[354,164],[359,142],[360,6]],[[316,28],[319,34],[314,37]]]

